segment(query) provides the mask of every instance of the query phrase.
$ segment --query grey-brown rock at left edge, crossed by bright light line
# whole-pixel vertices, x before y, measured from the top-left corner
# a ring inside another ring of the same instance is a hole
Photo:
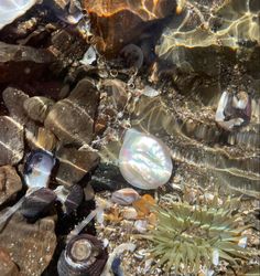
[[[23,150],[23,126],[9,116],[0,116],[0,166],[18,163]]]

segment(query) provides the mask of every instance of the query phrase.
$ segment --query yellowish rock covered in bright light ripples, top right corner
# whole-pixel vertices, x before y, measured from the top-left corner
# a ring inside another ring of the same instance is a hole
[[[186,17],[175,29],[164,31],[162,43],[158,46],[160,56],[171,54],[171,50],[177,45],[237,49],[245,42],[260,44],[260,1],[224,1],[216,7],[206,7],[199,2],[202,1],[185,2]]]

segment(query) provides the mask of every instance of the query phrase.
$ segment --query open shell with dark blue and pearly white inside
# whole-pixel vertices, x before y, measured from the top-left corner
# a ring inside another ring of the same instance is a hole
[[[24,181],[29,188],[46,188],[55,159],[51,152],[31,152],[24,166]]]

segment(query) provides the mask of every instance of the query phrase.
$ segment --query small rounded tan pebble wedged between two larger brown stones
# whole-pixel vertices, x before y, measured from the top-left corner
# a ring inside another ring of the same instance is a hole
[[[31,119],[43,123],[54,104],[51,98],[35,96],[24,100],[23,108]]]

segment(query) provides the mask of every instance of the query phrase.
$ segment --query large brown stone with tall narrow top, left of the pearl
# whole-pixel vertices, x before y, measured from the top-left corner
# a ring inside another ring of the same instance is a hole
[[[44,125],[63,144],[89,144],[98,100],[99,94],[90,81],[82,79],[67,98],[53,106]]]

